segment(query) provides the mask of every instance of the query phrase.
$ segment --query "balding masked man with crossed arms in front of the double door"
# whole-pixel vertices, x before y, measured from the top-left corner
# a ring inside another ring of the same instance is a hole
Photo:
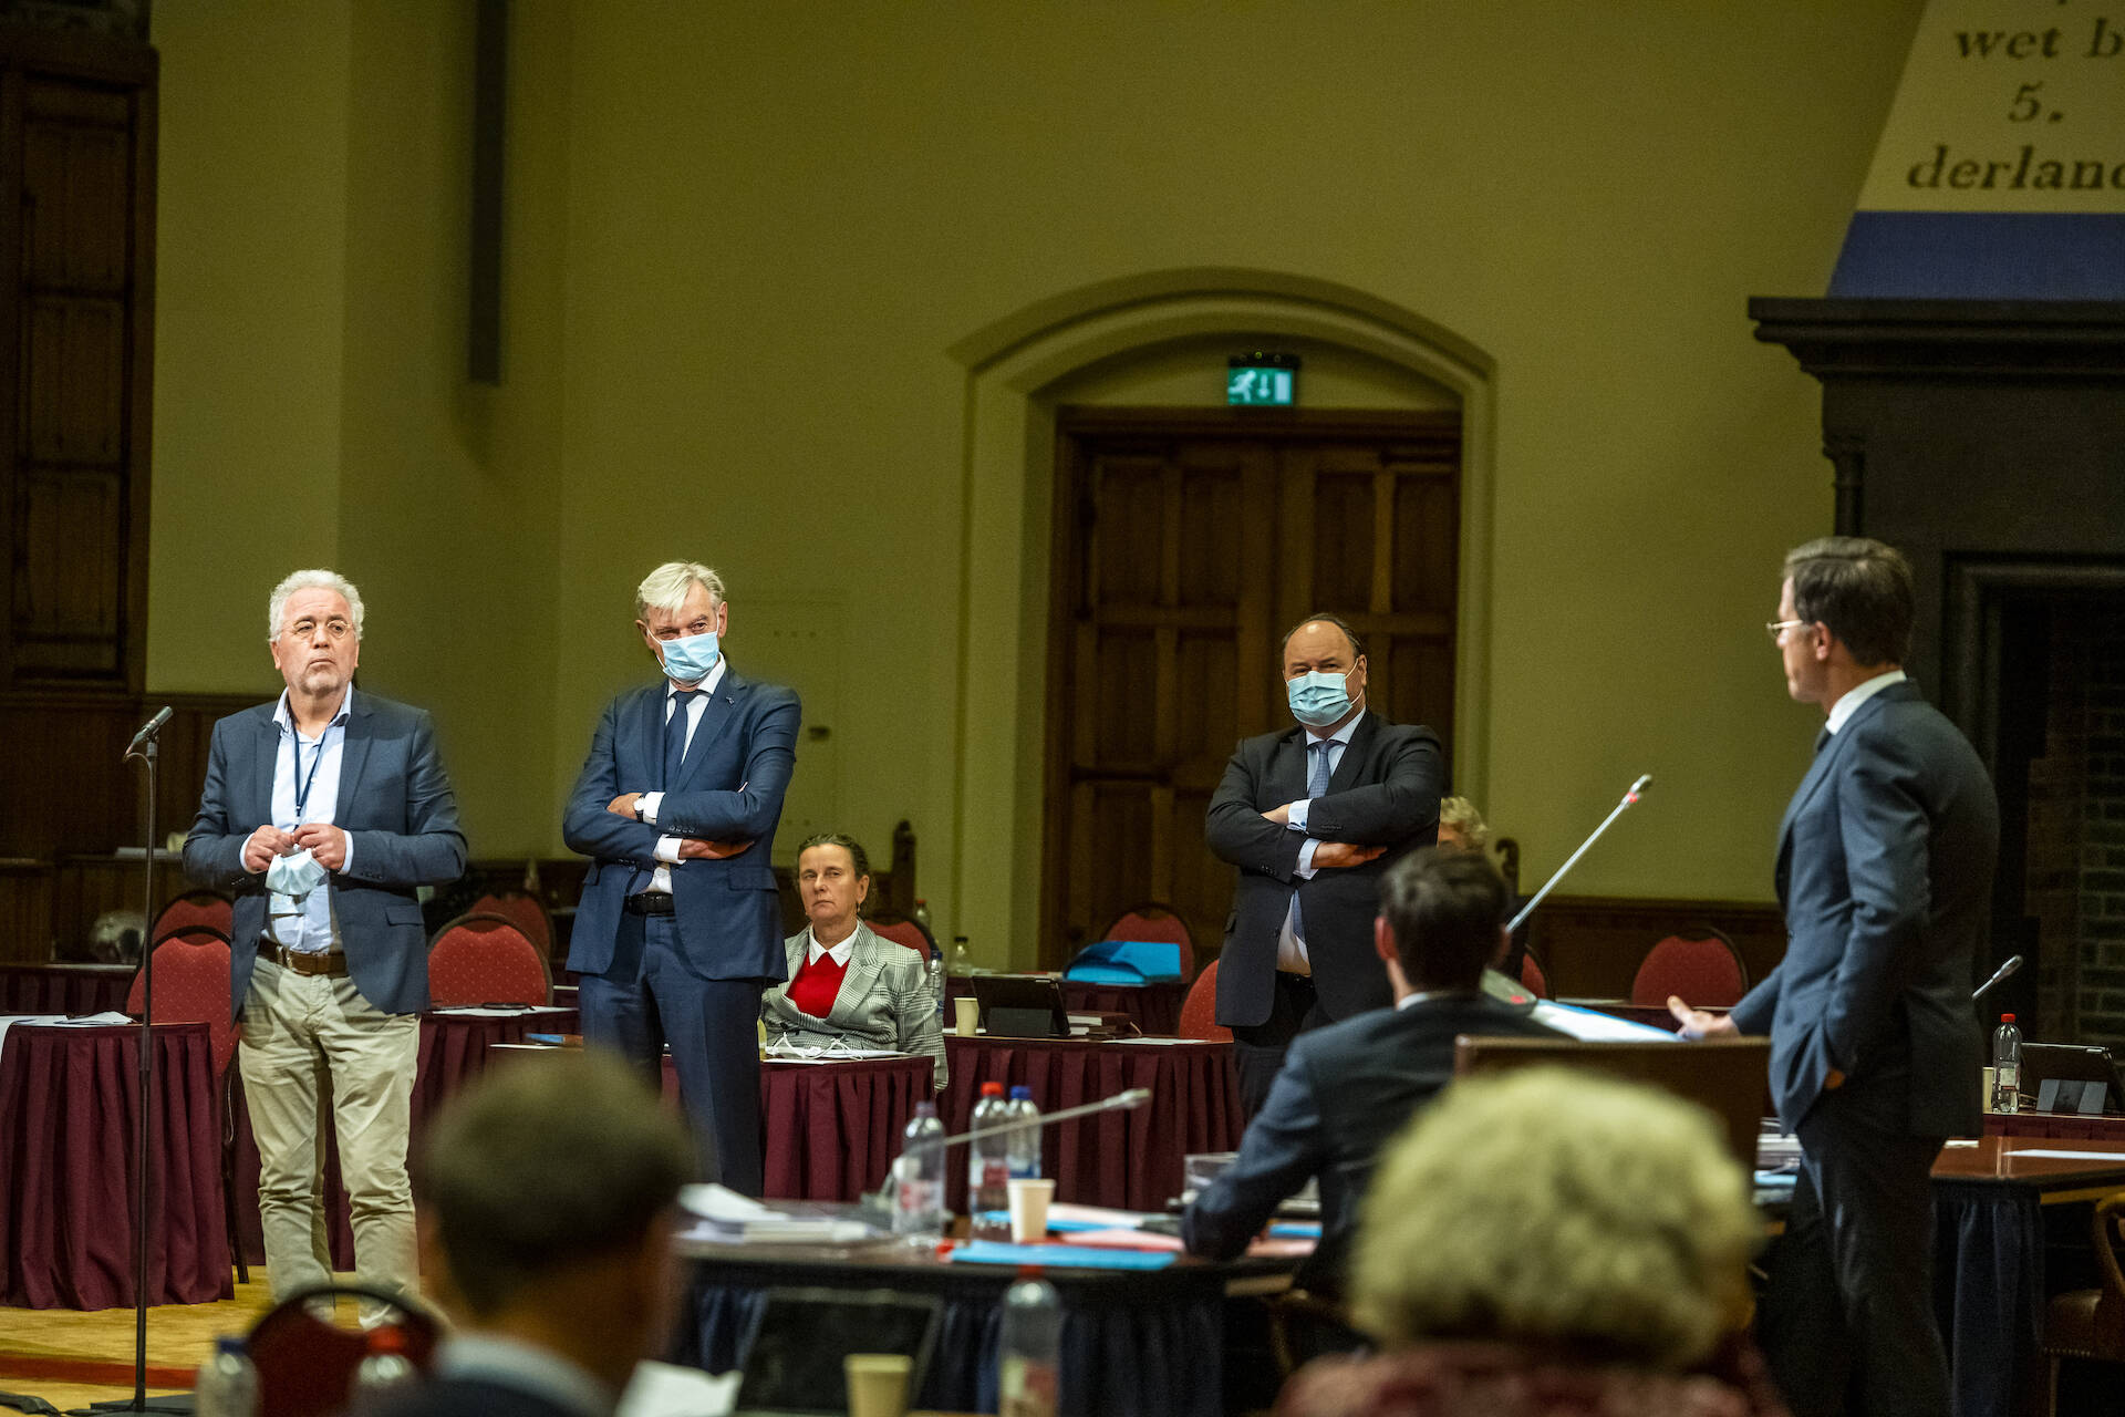
[[[1439,831],[1445,763],[1430,729],[1364,707],[1364,646],[1332,614],[1279,650],[1296,727],[1245,739],[1209,801],[1205,839],[1239,867],[1218,958],[1218,1022],[1247,1111],[1307,1028],[1390,1003],[1373,952],[1379,877]]]

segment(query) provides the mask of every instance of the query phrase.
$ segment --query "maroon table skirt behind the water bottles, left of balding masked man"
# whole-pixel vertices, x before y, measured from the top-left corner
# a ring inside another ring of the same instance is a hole
[[[1232,1151],[1247,1126],[1230,1043],[946,1035],[944,1045],[952,1086],[937,1111],[954,1137],[967,1130],[986,1081],[1033,1088],[1043,1113],[1150,1088],[1143,1107],[1043,1128],[1041,1168],[1054,1177],[1056,1200],[1162,1211],[1182,1192],[1182,1158]],[[946,1202],[965,1211],[965,1164],[946,1166]]]

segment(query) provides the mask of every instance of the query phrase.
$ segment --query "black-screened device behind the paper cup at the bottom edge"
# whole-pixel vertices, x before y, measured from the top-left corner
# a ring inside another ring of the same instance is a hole
[[[914,1402],[937,1343],[941,1300],[897,1290],[769,1290],[746,1334],[733,1417],[839,1417],[850,1353],[903,1353]]]

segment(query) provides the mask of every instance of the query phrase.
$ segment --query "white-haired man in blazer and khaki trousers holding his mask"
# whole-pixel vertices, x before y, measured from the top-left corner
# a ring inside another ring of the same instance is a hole
[[[317,1079],[332,1077],[361,1283],[412,1294],[406,1130],[427,1007],[416,886],[465,871],[425,712],[357,695],[361,593],[295,571],[266,608],[276,703],[215,724],[185,873],[236,899],[230,998],[259,1143],[274,1294],[332,1279],[317,1207]]]

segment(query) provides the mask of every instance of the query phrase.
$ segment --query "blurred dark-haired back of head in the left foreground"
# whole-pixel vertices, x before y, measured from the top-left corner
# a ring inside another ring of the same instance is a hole
[[[614,1343],[631,1326],[654,1328],[669,1302],[669,1234],[693,1156],[686,1128],[608,1054],[495,1069],[450,1098],[412,1164],[444,1296],[474,1326],[495,1326],[540,1307],[604,1307],[612,1294],[620,1311],[567,1317],[604,1326]],[[625,1366],[638,1355],[625,1353]]]

